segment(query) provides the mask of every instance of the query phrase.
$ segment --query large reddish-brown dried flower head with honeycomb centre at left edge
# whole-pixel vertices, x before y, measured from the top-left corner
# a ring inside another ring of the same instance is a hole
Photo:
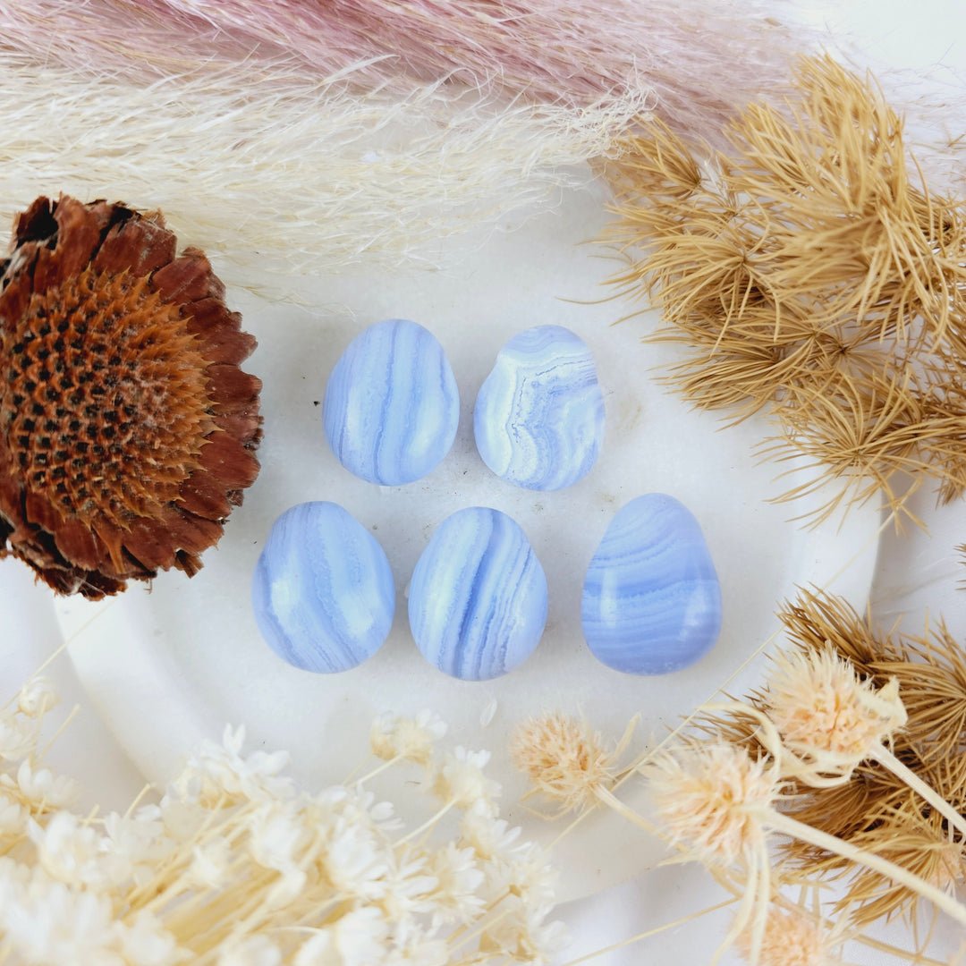
[[[0,557],[99,599],[193,575],[258,474],[255,346],[159,213],[39,198],[0,262]]]

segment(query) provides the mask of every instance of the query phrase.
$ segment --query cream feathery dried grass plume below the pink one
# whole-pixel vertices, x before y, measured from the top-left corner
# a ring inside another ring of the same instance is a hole
[[[441,238],[588,182],[582,162],[611,153],[647,98],[500,107],[434,85],[358,99],[284,65],[258,81],[240,65],[134,87],[10,53],[0,76],[8,210],[45,190],[160,207],[240,284],[363,255],[432,261]]]

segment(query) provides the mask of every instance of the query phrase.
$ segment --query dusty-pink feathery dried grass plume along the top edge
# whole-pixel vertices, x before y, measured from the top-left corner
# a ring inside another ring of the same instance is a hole
[[[675,129],[718,138],[737,107],[784,86],[788,58],[814,45],[804,25],[782,24],[791,15],[773,0],[88,0],[76,12],[14,0],[0,36],[95,71],[183,70],[257,45],[315,76],[353,71],[359,85],[403,95],[451,75],[568,106],[644,87]],[[171,41],[158,44],[165,26]]]

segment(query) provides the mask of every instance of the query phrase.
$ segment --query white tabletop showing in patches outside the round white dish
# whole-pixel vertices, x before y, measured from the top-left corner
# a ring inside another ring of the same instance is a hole
[[[853,32],[867,51],[870,63],[919,69],[944,65],[944,82],[962,84],[966,77],[966,5],[961,0],[840,0],[835,5],[814,7],[816,19],[825,19],[839,35]],[[928,525],[928,533],[913,530],[904,535],[884,534],[872,591],[875,613],[884,622],[901,619],[902,626],[922,627],[928,613],[942,614],[952,633],[966,639],[966,567],[954,552],[966,542],[966,504],[935,509],[926,493],[916,497],[915,506]],[[49,608],[43,588],[33,585],[27,571],[10,562],[0,564],[0,680],[11,692],[19,682],[58,646],[61,631]],[[82,709],[70,729],[58,741],[51,760],[70,767],[88,789],[87,801],[95,798],[106,808],[123,807],[140,789],[143,779],[82,689],[67,660],[56,661],[51,676],[57,681],[67,704]],[[136,704],[139,694],[149,695],[149,679],[120,682]],[[146,723],[148,724],[148,723]],[[186,731],[191,729],[185,725]],[[627,831],[628,841],[637,836]],[[599,950],[622,938],[672,922],[718,900],[706,876],[694,867],[667,867],[622,886],[564,907],[573,946],[561,961]],[[726,917],[712,914],[706,919],[681,924],[654,939],[596,959],[601,966],[630,966],[640,962],[690,964],[706,962],[722,934]],[[908,940],[909,930],[901,923],[890,930],[896,942]],[[941,925],[937,934],[940,949],[949,952],[957,938]],[[849,961],[884,966],[892,960],[881,955],[850,951]],[[725,963],[737,962],[725,957]]]

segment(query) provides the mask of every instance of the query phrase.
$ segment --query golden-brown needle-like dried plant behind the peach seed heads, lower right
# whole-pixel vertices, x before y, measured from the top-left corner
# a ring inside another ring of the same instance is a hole
[[[876,630],[870,618],[841,598],[803,590],[779,616],[793,654],[830,652],[848,662],[868,689],[897,688],[906,722],[890,737],[902,766],[930,786],[952,810],[966,815],[966,656],[942,623],[922,636]],[[760,751],[759,715],[773,696],[753,693],[742,705],[714,712],[700,730]],[[966,877],[966,848],[952,823],[874,758],[856,763],[848,781],[816,787],[790,780],[784,814],[907,869],[944,892]],[[860,868],[807,842],[788,841],[781,856],[791,870],[843,884],[838,910],[864,927],[915,910],[919,896],[874,870]]]

